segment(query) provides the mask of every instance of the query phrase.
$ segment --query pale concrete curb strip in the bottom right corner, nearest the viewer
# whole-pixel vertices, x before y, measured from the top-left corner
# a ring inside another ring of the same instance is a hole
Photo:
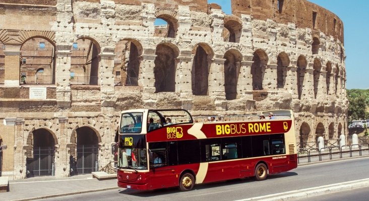
[[[333,192],[341,192],[343,190],[351,190],[356,188],[363,188],[369,186],[369,178],[359,179],[354,181],[347,181],[336,184],[329,184],[323,186],[317,186],[312,188],[305,188],[300,190],[292,190],[287,192],[281,192],[276,194],[264,195],[259,197],[252,197],[247,199],[239,199],[236,201],[286,201],[286,200],[296,200],[307,197],[314,197],[317,195],[323,195]]]

